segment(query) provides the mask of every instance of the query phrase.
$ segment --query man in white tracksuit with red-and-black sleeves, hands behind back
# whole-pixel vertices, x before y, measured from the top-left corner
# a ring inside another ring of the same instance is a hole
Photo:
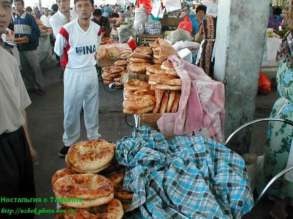
[[[64,157],[80,137],[80,112],[84,109],[87,138],[100,138],[99,84],[95,53],[101,42],[101,27],[90,21],[93,0],[74,1],[78,18],[65,24],[56,38],[54,52],[63,55],[64,71]]]

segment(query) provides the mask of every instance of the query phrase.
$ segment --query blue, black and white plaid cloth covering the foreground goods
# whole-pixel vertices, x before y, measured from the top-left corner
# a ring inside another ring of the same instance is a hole
[[[128,210],[139,207],[143,218],[236,218],[252,208],[244,160],[209,138],[167,142],[143,126],[117,142],[116,158],[134,193]]]

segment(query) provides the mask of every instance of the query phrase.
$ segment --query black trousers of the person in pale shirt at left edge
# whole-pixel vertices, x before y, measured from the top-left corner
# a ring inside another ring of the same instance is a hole
[[[0,218],[33,219],[33,214],[8,215],[5,209],[35,208],[35,203],[3,202],[11,198],[36,197],[34,170],[23,128],[0,135]],[[3,210],[4,209],[4,210]]]

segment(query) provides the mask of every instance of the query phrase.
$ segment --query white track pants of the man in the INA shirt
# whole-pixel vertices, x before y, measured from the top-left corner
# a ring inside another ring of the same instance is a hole
[[[64,71],[64,134],[63,143],[71,146],[81,133],[80,112],[84,108],[87,138],[100,138],[99,134],[99,82],[96,68],[86,72]]]

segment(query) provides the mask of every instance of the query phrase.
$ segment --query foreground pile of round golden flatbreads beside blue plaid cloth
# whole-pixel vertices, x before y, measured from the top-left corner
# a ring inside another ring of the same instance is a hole
[[[65,213],[55,219],[121,219],[133,193],[123,190],[124,167],[116,145],[103,139],[78,142],[65,157],[67,168],[52,177],[52,189]],[[74,213],[72,212],[74,210]]]

